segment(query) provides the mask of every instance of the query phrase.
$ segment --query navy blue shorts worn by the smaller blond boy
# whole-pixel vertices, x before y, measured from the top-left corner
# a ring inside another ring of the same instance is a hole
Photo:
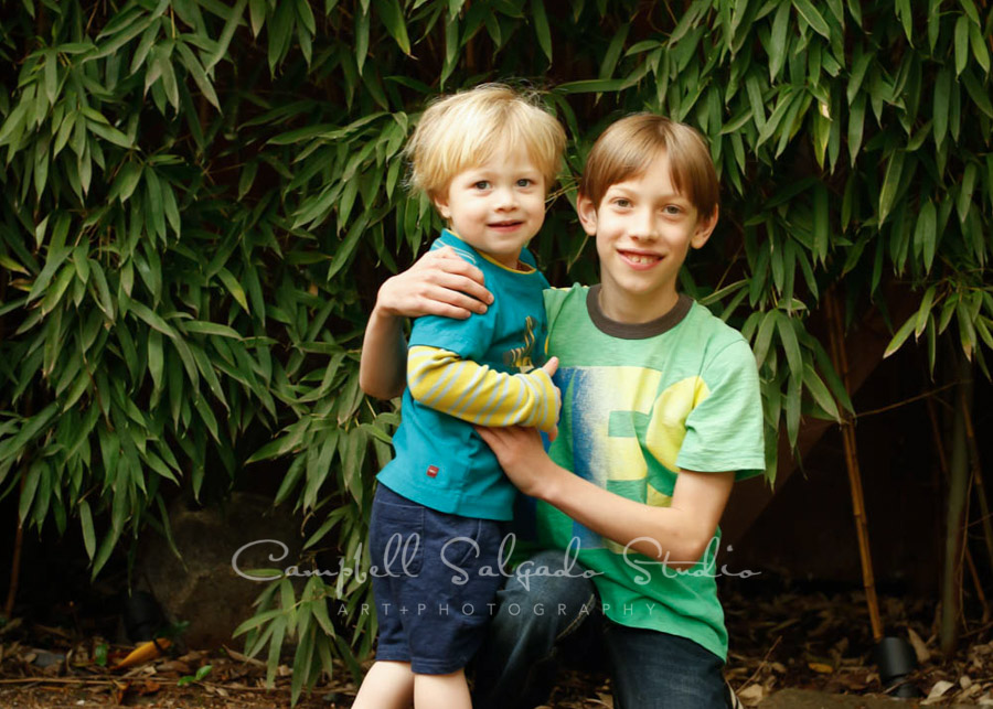
[[[369,535],[376,659],[418,675],[465,667],[496,609],[503,533],[504,523],[437,512],[381,484]]]

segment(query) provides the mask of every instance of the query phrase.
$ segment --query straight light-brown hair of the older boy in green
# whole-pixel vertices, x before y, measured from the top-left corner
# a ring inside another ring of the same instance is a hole
[[[612,123],[594,143],[579,192],[597,207],[612,184],[644,174],[661,151],[669,155],[672,184],[704,218],[714,214],[720,185],[707,143],[696,130],[655,114],[634,114]]]

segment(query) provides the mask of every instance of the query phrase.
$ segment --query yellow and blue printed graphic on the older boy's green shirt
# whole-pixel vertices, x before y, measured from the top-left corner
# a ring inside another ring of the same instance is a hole
[[[686,419],[709,396],[693,376],[664,386],[662,373],[645,367],[564,367],[554,377],[563,391],[563,417],[553,458],[572,451],[570,470],[629,499],[666,507],[672,503],[686,436]],[[584,549],[622,546],[573,523],[569,536]]]

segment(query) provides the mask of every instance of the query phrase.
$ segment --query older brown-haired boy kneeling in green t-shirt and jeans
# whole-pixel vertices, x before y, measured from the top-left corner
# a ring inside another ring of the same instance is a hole
[[[748,344],[676,288],[688,250],[714,230],[717,195],[703,140],[660,116],[617,121],[589,154],[577,211],[596,237],[601,283],[545,298],[548,352],[560,361],[558,439],[546,453],[533,429],[480,433],[536,501],[533,518],[515,522],[549,549],[531,568],[562,569],[573,545],[597,576],[508,581],[477,660],[477,707],[534,706],[534,668],[588,619],[601,626],[615,706],[726,706],[717,523],[735,480],[765,459]],[[479,296],[469,284],[478,276],[435,258],[388,281],[381,302],[396,314],[476,311],[451,291]],[[430,296],[407,312],[398,304],[410,293]],[[372,388],[388,394],[388,380]]]

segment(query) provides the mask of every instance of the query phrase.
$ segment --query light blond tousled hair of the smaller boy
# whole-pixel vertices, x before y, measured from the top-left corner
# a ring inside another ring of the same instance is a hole
[[[545,178],[558,173],[566,136],[536,100],[503,84],[483,84],[433,103],[407,143],[410,186],[435,200],[460,172],[484,163],[498,148],[523,147]]]

